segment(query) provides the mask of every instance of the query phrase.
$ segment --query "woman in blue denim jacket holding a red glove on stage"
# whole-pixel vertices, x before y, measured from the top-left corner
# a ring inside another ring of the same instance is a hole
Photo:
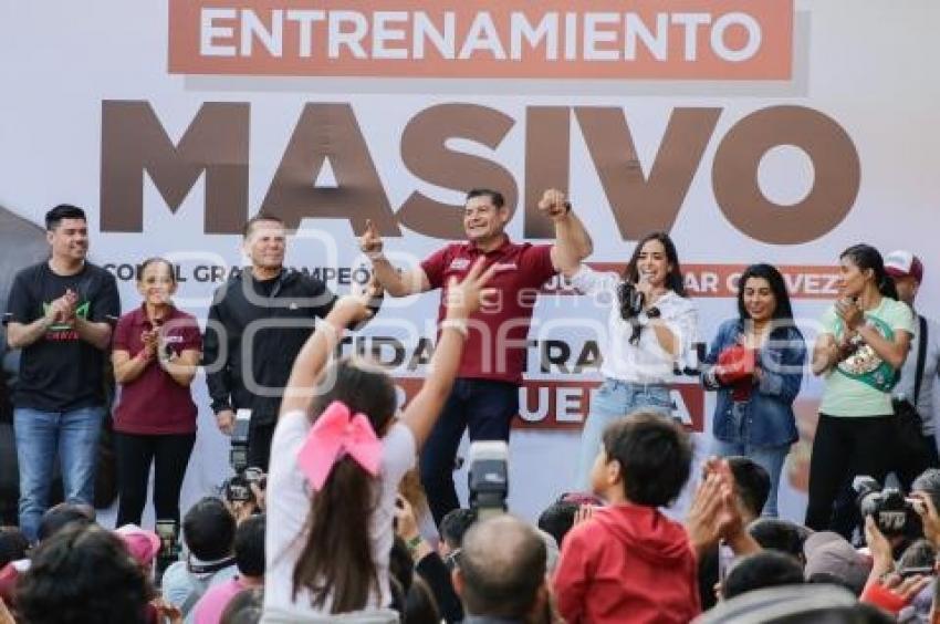
[[[739,318],[719,327],[702,384],[718,391],[713,451],[749,457],[767,471],[771,490],[763,514],[775,517],[783,462],[797,439],[793,401],[803,382],[806,343],[793,323],[780,271],[753,264],[738,283]]]

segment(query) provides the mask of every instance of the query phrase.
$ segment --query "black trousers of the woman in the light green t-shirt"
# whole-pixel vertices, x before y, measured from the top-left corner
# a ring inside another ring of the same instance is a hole
[[[819,414],[810,459],[810,502],[806,526],[836,531],[852,539],[860,516],[849,490],[856,476],[879,483],[891,469],[894,415],[838,417]],[[836,505],[838,500],[838,505]]]

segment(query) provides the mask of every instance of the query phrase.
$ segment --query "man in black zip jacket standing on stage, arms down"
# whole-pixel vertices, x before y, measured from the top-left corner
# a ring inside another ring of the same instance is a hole
[[[219,429],[230,435],[234,412],[251,409],[248,465],[267,471],[291,366],[336,295],[321,280],[284,268],[286,235],[278,217],[252,217],[242,236],[251,268],[216,291],[202,361]]]

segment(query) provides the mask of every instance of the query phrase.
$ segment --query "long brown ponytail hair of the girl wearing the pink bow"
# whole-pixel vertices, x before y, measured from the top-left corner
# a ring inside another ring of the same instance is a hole
[[[364,414],[382,437],[397,407],[391,378],[363,360],[343,358],[331,365],[316,389],[312,420],[334,401]],[[364,609],[379,581],[372,553],[372,516],[378,479],[352,457],[338,459],[311,500],[304,544],[293,573],[293,599],[309,590],[313,606],[331,600],[331,613]]]

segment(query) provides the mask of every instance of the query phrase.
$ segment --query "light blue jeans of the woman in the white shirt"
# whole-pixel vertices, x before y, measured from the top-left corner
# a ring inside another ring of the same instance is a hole
[[[591,410],[581,433],[577,461],[577,490],[591,491],[591,467],[600,450],[604,429],[614,420],[637,409],[672,416],[672,398],[662,384],[631,384],[607,377],[591,399]]]

